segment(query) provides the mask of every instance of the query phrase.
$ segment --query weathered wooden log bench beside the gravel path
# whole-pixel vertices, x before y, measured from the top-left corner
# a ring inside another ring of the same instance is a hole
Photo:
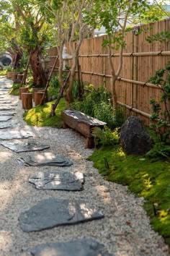
[[[94,148],[94,137],[92,135],[94,127],[103,129],[104,124],[106,124],[104,121],[99,121],[73,109],[63,111],[61,119],[63,120],[63,128],[71,127],[86,137],[85,148]]]

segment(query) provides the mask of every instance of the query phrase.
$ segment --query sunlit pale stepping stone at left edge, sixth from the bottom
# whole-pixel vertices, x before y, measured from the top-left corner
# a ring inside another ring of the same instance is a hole
[[[0,140],[27,139],[28,137],[32,137],[32,134],[30,132],[24,132],[23,130],[0,133]]]

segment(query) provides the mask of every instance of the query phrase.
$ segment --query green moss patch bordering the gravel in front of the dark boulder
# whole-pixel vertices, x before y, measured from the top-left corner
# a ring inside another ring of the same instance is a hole
[[[100,148],[89,160],[94,162],[94,167],[105,179],[128,185],[131,192],[146,199],[144,208],[151,218],[151,225],[170,247],[169,162],[152,162],[141,156],[126,155],[120,146]]]

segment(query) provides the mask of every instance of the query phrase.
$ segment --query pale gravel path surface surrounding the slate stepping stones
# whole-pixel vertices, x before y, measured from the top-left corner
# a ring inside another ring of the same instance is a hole
[[[9,80],[1,78],[0,88],[6,81]],[[6,130],[32,132],[33,137],[24,139],[25,142],[42,142],[50,145],[50,150],[46,151],[70,158],[73,166],[57,169],[81,171],[85,175],[85,184],[81,192],[37,190],[28,182],[30,174],[56,168],[19,166],[17,158],[34,155],[34,152],[14,153],[0,145],[0,256],[21,255],[22,248],[45,242],[67,242],[80,238],[96,239],[115,256],[169,255],[161,236],[151,229],[143,210],[143,198],[136,198],[128,192],[128,187],[105,181],[97,169],[93,168],[93,163],[86,161],[93,151],[84,149],[84,137],[72,129],[27,126],[22,120],[23,111],[18,97],[10,98],[12,102],[18,102],[15,107],[17,114],[12,119],[16,127]],[[4,129],[0,129],[0,133],[3,131]],[[23,232],[18,222],[19,214],[49,197],[84,200],[101,210],[105,218],[45,231]]]

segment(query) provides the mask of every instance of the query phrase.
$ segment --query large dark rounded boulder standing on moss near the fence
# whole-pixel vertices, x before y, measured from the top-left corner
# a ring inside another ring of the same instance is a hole
[[[130,116],[120,131],[120,144],[130,155],[143,155],[153,146],[151,137],[146,132],[142,120],[137,116]]]

